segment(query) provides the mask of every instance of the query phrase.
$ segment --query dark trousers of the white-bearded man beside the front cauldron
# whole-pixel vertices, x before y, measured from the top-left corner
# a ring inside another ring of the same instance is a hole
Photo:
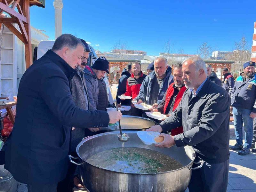
[[[198,162],[199,158],[195,159]],[[193,167],[199,164],[193,164]],[[189,192],[226,192],[228,188],[229,159],[222,163],[204,163],[203,167],[192,170],[188,185]]]

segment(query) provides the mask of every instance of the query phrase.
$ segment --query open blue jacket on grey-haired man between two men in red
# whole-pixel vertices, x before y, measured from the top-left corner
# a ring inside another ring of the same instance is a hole
[[[139,95],[137,96],[137,100],[142,100],[143,102],[146,102],[148,105],[153,105],[152,101],[152,93],[151,93],[151,86],[152,86],[152,81],[156,79],[156,72],[152,71],[151,73],[148,74],[148,76],[144,79],[142,85],[140,86],[140,92]],[[157,103],[159,104],[163,97],[164,93],[168,89],[169,85],[173,83],[173,76],[169,71],[166,70],[166,75],[164,77],[164,82],[161,84],[161,87],[159,88],[159,93],[157,97]]]

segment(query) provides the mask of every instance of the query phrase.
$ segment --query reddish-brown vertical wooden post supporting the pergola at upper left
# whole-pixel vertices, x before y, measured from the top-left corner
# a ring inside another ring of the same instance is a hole
[[[28,34],[28,44],[25,44],[25,60],[26,69],[32,65],[32,45],[31,45],[31,31],[30,31],[30,12],[29,12],[29,0],[22,0],[23,14],[27,18],[28,23],[24,24],[25,30]]]

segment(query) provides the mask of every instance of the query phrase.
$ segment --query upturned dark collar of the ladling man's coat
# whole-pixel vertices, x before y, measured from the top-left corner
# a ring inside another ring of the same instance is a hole
[[[48,50],[45,54],[45,57],[48,57],[50,60],[53,61],[56,65],[59,66],[59,68],[65,73],[65,75],[68,78],[68,81],[70,81],[73,76],[76,74],[76,69],[73,69],[68,65],[68,63],[63,60],[59,55],[57,55],[55,52],[52,50]]]

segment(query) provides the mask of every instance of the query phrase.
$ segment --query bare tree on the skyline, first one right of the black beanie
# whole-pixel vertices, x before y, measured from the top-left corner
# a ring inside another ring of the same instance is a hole
[[[114,58],[118,59],[128,59],[128,55],[125,54],[126,49],[129,49],[126,41],[119,40],[111,46],[111,52],[113,52]]]

